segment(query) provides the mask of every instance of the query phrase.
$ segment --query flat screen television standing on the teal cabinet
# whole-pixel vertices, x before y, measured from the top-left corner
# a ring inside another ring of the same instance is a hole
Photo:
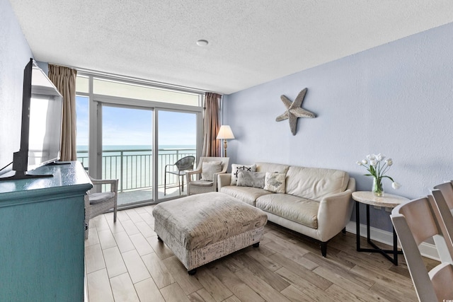
[[[59,160],[63,98],[33,59],[23,70],[21,149],[13,153],[13,175],[0,180],[51,177],[36,168]]]

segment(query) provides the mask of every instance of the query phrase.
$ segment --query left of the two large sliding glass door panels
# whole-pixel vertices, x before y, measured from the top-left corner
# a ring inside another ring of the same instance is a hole
[[[102,105],[102,178],[117,178],[118,206],[153,200],[153,111]]]

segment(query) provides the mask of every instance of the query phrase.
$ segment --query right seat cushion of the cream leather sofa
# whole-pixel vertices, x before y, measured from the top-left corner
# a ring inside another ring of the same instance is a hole
[[[289,194],[268,194],[256,199],[256,207],[309,228],[318,228],[319,202],[314,200]]]

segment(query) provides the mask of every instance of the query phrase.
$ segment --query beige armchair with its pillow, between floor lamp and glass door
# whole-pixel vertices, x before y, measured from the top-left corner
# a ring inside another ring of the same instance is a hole
[[[200,157],[197,169],[188,171],[187,194],[217,191],[217,175],[226,173],[229,157]]]

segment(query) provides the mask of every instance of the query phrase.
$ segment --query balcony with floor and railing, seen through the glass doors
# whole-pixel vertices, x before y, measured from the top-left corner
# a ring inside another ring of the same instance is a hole
[[[195,149],[159,149],[157,178],[159,199],[178,197],[178,179],[167,174],[164,196],[164,168],[184,156],[196,156]],[[77,160],[88,167],[88,151],[77,151]],[[196,166],[196,163],[195,163]],[[118,179],[118,206],[147,202],[153,198],[152,149],[106,149],[102,156],[102,179]],[[185,182],[184,192],[185,194]]]

